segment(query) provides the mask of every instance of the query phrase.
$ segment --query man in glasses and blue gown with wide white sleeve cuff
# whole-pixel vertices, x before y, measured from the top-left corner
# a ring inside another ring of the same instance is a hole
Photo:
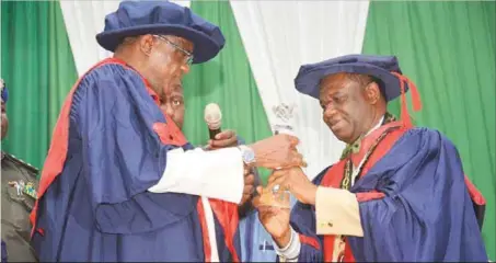
[[[83,75],[60,112],[31,217],[39,261],[238,261],[243,171],[301,164],[298,140],[211,151],[186,141],[161,100],[224,45],[189,9],[124,1],[96,39],[114,57]],[[219,232],[226,250],[211,243]]]

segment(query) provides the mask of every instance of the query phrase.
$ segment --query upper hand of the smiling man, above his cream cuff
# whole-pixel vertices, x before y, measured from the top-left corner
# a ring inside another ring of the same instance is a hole
[[[275,185],[288,190],[303,204],[315,205],[318,186],[310,182],[299,167],[274,171],[268,178],[267,188],[273,188]]]

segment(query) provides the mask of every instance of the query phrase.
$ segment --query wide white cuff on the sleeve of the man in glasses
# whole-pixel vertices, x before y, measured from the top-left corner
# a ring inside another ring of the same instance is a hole
[[[244,163],[238,148],[168,152],[165,171],[152,193],[183,193],[239,204],[244,187]]]

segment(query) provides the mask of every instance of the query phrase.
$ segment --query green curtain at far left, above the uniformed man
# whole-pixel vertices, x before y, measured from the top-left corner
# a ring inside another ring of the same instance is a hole
[[[2,150],[42,168],[64,99],[77,79],[58,1],[2,1],[1,78],[9,134]]]

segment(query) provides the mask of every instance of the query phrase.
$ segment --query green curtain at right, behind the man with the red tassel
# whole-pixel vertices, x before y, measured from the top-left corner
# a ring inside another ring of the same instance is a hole
[[[396,55],[418,87],[418,126],[441,130],[484,194],[483,236],[496,258],[495,2],[371,2],[364,53]],[[411,100],[408,99],[408,102]],[[400,113],[399,101],[390,110]]]

